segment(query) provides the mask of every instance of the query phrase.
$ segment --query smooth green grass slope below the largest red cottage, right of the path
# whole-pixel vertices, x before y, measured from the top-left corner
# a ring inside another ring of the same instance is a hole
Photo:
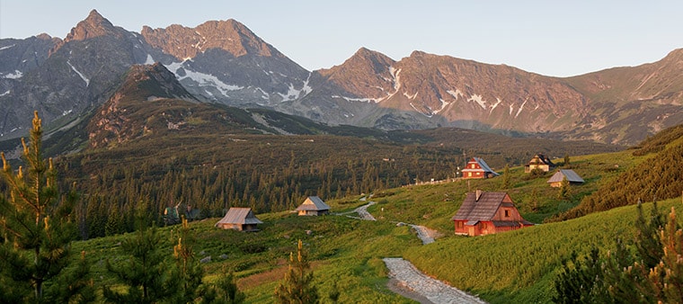
[[[680,199],[659,203],[662,213]],[[649,213],[652,203],[644,205]],[[404,257],[422,272],[479,294],[492,303],[546,303],[561,261],[590,246],[615,247],[616,237],[633,239],[635,206],[608,210],[564,222],[538,225],[484,237],[449,237],[406,250]],[[601,252],[607,252],[601,250]]]

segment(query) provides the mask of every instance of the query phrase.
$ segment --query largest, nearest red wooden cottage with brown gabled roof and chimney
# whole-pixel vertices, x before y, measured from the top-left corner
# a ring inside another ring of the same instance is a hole
[[[451,219],[455,222],[457,235],[470,237],[534,225],[522,219],[508,193],[481,190],[468,192],[462,206]]]

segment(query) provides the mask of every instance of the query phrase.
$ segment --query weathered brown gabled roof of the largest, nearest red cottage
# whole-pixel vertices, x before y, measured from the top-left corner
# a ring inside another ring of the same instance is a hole
[[[468,220],[475,223],[479,220],[491,220],[508,196],[506,192],[481,192],[476,200],[476,192],[468,192],[457,213],[452,220]],[[473,224],[474,225],[474,224]]]

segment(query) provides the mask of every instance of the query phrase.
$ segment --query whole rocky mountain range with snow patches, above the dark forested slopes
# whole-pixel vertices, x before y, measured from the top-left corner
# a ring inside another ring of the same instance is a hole
[[[182,100],[270,109],[328,125],[458,127],[633,145],[683,122],[683,49],[658,62],[572,77],[418,50],[396,61],[365,48],[339,66],[307,71],[235,20],[138,33],[93,10],[63,40],[47,34],[0,40],[0,139],[24,136],[33,111],[52,131],[93,115],[102,121],[103,106],[111,107],[130,69],[155,63],[182,85],[169,93]],[[111,140],[99,135],[93,138]]]

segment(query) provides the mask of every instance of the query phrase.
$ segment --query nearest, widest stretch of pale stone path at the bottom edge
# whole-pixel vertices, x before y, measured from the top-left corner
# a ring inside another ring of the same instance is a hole
[[[467,294],[465,291],[460,291],[448,286],[444,282],[430,278],[417,270],[410,262],[400,257],[386,257],[383,260],[386,268],[389,269],[389,278],[395,280],[399,288],[420,295],[422,303],[486,303],[475,296]]]

